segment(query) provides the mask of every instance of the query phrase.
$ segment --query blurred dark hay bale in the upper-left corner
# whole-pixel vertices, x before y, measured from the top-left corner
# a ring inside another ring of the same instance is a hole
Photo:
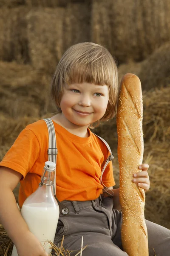
[[[26,7],[0,9],[0,60],[28,63]]]

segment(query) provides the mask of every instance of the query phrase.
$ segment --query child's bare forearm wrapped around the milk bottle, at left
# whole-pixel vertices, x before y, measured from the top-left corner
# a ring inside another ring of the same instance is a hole
[[[12,190],[1,183],[0,195],[0,223],[14,244],[17,244],[29,231],[28,226],[20,214]]]

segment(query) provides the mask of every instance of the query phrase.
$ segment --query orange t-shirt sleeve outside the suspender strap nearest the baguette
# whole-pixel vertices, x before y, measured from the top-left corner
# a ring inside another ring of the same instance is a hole
[[[111,153],[108,151],[108,148],[106,148],[105,146],[105,160],[104,160],[104,164],[105,164],[105,161],[106,159],[108,158],[108,156],[110,155]],[[110,161],[108,163],[108,165],[106,166],[106,169],[102,175],[102,183],[107,186],[107,187],[110,187],[110,186],[114,186],[116,183],[115,183],[115,180],[114,180],[114,177],[113,177],[113,165],[112,165],[112,161]]]

